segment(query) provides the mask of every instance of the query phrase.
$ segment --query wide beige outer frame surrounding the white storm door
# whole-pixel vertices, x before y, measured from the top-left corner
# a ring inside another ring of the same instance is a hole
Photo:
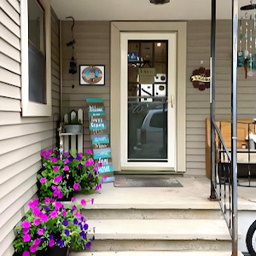
[[[120,33],[176,32],[177,33],[177,172],[186,171],[186,61],[187,22],[172,21],[113,21],[111,22],[110,60],[110,138],[114,172],[121,171],[121,100],[120,100]],[[132,168],[134,170],[134,168]],[[139,170],[146,168],[137,168]],[[129,170],[123,168],[122,170]],[[155,170],[155,168],[154,168]],[[166,167],[157,169],[167,171]]]

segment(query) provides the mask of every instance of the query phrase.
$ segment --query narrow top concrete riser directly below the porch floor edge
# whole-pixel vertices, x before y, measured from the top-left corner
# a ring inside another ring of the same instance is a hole
[[[87,219],[223,219],[219,209],[84,209]]]

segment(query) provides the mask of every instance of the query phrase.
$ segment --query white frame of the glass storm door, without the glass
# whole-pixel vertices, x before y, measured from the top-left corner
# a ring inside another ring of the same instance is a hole
[[[177,88],[177,35],[176,32],[121,32],[121,83],[120,83],[120,144],[121,170],[145,171],[177,171],[177,133],[176,133],[176,104],[171,108],[168,103],[168,147],[167,161],[128,161],[128,40],[167,40],[168,41],[168,100],[174,95]],[[154,148],[152,148],[154,150]]]

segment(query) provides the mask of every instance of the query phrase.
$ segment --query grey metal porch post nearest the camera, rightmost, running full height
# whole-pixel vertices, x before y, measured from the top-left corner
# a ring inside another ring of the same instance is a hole
[[[231,160],[232,160],[232,255],[237,256],[237,33],[238,0],[232,0],[232,88],[231,88]]]

